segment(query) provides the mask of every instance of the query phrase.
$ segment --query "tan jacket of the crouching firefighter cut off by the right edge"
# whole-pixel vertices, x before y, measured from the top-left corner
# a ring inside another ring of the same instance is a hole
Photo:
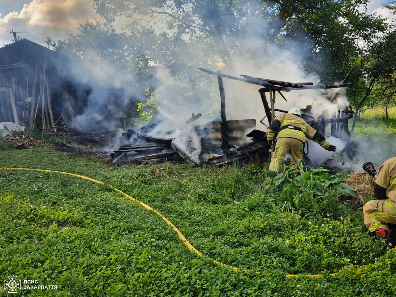
[[[386,206],[396,214],[396,157],[390,158],[378,169],[375,183],[386,190]],[[387,203],[387,201],[390,203]]]

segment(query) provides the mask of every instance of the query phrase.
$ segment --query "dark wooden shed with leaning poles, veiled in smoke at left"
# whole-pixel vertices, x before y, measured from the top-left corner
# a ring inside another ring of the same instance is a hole
[[[86,109],[92,88],[73,77],[71,65],[69,57],[27,39],[0,48],[0,122],[45,133],[63,128],[81,131],[77,118]],[[122,89],[103,88],[102,92],[105,100],[98,110],[123,109]],[[109,112],[111,116],[115,112]],[[96,126],[89,131],[102,132],[106,127],[99,120]]]

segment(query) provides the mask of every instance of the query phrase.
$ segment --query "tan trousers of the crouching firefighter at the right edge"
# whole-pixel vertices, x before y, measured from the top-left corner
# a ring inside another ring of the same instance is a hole
[[[396,224],[396,208],[389,199],[367,201],[363,206],[364,225],[370,232],[388,230],[386,223]]]

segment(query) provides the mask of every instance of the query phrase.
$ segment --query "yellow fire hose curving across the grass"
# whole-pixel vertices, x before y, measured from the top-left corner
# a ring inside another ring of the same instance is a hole
[[[81,179],[86,179],[88,181],[91,181],[93,183],[97,183],[97,184],[101,184],[101,185],[106,185],[105,183],[101,182],[101,181],[97,181],[96,179],[91,179],[90,177],[86,177],[83,175],[78,175],[78,174],[74,174],[74,173],[69,173],[69,172],[62,172],[62,171],[55,171],[55,170],[46,170],[46,169],[32,169],[32,168],[12,168],[12,167],[0,167],[0,169],[4,169],[4,170],[33,170],[33,171],[42,171],[42,172],[50,172],[50,173],[61,173],[61,174],[66,174],[66,175],[71,175],[71,176],[75,176],[75,177],[79,177]],[[136,198],[133,198],[131,196],[129,196],[128,194],[122,192],[122,190],[119,190],[118,188],[115,188],[111,185],[107,185],[109,187],[111,187],[112,189],[116,190],[117,192],[120,192],[121,194],[123,194],[125,197],[132,199],[133,201],[139,203],[141,206],[143,206],[145,209],[153,211],[155,214],[159,215],[160,217],[162,217],[162,219],[164,219],[164,221],[166,221],[166,223],[171,226],[173,228],[173,230],[176,231],[177,236],[179,236],[180,240],[183,242],[183,244],[188,248],[189,251],[192,251],[194,253],[196,253],[198,256],[200,256],[202,259],[204,259],[205,261],[213,261],[213,263],[217,264],[217,265],[221,265],[227,268],[230,268],[232,270],[239,271],[240,269],[238,267],[234,267],[234,266],[230,266],[221,262],[218,262],[216,260],[213,259],[209,259],[208,257],[204,257],[204,255],[202,255],[202,253],[200,251],[198,251],[194,246],[192,246],[192,244],[190,244],[190,242],[188,242],[188,240],[184,237],[184,235],[179,231],[179,229],[177,229],[175,227],[175,225],[173,225],[171,223],[171,221],[169,221],[166,217],[164,217],[161,213],[159,213],[156,209],[152,208],[151,206],[148,206],[147,204],[137,200]],[[367,270],[367,267],[365,267],[364,269]],[[247,272],[247,269],[244,269],[245,272]],[[260,273],[259,271],[255,272],[255,273]],[[358,271],[356,272],[357,274],[361,273],[361,270],[358,269]],[[330,274],[332,276],[335,276],[335,273]],[[298,274],[286,274],[287,278],[293,278],[293,277],[297,277]],[[323,275],[322,274],[305,274],[305,277],[310,277],[310,278],[320,278]]]

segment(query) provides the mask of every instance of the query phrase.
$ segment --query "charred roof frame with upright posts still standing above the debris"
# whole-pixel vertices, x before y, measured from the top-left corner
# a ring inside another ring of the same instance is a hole
[[[261,101],[263,102],[265,114],[268,119],[268,124],[271,124],[272,120],[275,118],[275,111],[283,111],[283,110],[277,110],[275,109],[275,96],[276,92],[278,92],[282,98],[286,100],[284,95],[281,93],[281,91],[289,92],[289,91],[295,91],[295,90],[305,90],[305,89],[334,89],[334,88],[346,88],[346,87],[351,87],[353,86],[353,83],[343,83],[343,84],[334,84],[334,85],[319,85],[318,83],[314,84],[312,82],[283,82],[279,80],[269,80],[265,78],[258,78],[254,76],[249,76],[249,75],[244,75],[241,74],[240,76],[242,77],[236,77],[236,76],[231,76],[228,74],[223,74],[221,71],[212,71],[204,68],[198,68],[201,71],[204,71],[206,73],[212,74],[217,76],[217,82],[219,84],[219,91],[220,91],[220,115],[221,115],[221,147],[223,150],[228,150],[229,145],[228,145],[228,131],[227,131],[227,118],[225,114],[225,91],[224,91],[224,85],[223,85],[223,77],[225,78],[230,78],[233,80],[239,80],[242,82],[247,82],[249,84],[255,84],[258,86],[263,86],[263,88],[259,89],[259,93],[261,96]],[[349,74],[349,73],[348,73]],[[344,80],[345,81],[345,80]],[[265,95],[265,92],[269,93],[270,97],[270,106],[268,105],[267,97]],[[351,114],[350,114],[351,115]],[[341,118],[342,120],[348,120],[350,118],[350,115],[346,116],[345,119]],[[340,118],[338,120],[334,119],[334,121],[329,121],[329,122],[339,122],[341,120]],[[261,122],[262,123],[262,122]],[[264,124],[264,123],[263,123]]]

